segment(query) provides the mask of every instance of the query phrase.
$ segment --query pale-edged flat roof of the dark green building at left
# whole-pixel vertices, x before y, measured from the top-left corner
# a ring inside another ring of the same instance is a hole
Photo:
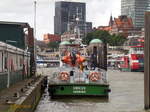
[[[22,26],[22,27],[30,27],[30,25],[28,23],[25,22],[9,22],[9,21],[0,21],[0,24],[4,24],[4,25],[18,25],[18,26]]]

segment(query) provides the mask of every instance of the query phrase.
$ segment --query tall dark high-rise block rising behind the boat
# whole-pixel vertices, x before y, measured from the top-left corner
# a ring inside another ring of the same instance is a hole
[[[77,20],[78,19],[78,20]],[[54,33],[61,35],[78,25],[81,34],[92,30],[92,23],[86,22],[86,4],[81,2],[55,2]]]

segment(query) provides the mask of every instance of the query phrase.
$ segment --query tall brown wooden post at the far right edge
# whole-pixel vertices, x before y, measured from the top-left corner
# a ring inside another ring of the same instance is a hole
[[[145,13],[144,106],[150,109],[150,12]]]

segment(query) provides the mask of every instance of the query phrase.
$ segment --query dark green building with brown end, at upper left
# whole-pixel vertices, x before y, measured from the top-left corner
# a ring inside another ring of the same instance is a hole
[[[8,44],[26,49],[33,39],[29,38],[30,34],[33,33],[31,33],[31,29],[28,23],[0,21],[0,41],[7,43],[8,40],[11,40],[14,42],[8,42]]]

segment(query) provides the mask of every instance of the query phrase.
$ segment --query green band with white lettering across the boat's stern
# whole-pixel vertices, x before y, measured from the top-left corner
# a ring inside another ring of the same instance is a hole
[[[49,85],[53,95],[108,95],[109,85]]]

